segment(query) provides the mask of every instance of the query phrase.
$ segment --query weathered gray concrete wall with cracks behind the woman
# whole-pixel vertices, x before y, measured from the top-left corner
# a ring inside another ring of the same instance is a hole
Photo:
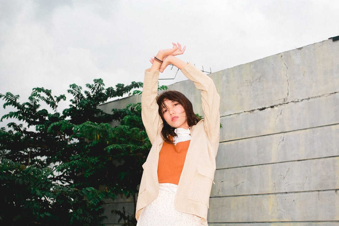
[[[210,76],[221,96],[223,128],[209,225],[339,225],[339,41]],[[191,81],[169,88],[184,93],[203,115]],[[100,107],[130,102],[140,97]]]

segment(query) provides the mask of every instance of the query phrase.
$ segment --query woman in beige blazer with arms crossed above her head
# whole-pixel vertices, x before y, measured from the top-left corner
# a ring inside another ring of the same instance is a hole
[[[142,121],[152,148],[143,164],[136,219],[138,226],[207,225],[207,209],[219,145],[219,102],[212,79],[175,57],[185,47],[159,50],[145,70]],[[199,121],[191,102],[177,91],[159,97],[158,78],[169,65],[201,90],[205,118]]]

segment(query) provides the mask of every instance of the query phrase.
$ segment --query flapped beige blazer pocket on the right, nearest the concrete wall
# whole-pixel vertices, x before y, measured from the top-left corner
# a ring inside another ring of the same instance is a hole
[[[210,167],[199,167],[193,176],[192,186],[187,198],[202,202],[209,207],[213,178],[213,169]]]

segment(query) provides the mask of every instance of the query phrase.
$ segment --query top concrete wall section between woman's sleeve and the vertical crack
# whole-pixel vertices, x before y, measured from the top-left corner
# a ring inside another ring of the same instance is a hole
[[[232,115],[282,104],[287,79],[278,55],[214,73],[220,94],[220,115]]]

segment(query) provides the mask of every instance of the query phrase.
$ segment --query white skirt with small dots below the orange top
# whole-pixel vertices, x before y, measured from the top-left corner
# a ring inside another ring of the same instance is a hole
[[[177,187],[176,184],[159,184],[158,197],[142,210],[137,226],[201,226],[198,216],[174,209]]]

